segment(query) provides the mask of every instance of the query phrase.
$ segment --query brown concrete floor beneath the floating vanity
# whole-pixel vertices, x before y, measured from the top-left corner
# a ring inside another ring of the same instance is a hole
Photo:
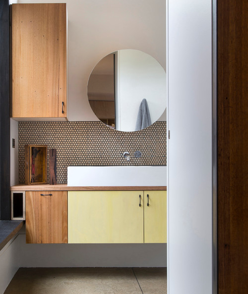
[[[4,294],[166,294],[166,268],[19,268]]]

